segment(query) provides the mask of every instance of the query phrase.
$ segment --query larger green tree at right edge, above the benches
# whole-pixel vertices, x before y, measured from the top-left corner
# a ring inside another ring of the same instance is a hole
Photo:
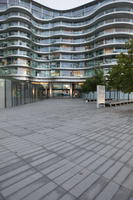
[[[133,39],[125,45],[127,53],[121,53],[108,76],[108,85],[112,89],[125,93],[133,92]]]

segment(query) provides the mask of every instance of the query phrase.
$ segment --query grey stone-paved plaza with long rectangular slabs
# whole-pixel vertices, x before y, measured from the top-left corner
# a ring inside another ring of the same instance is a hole
[[[0,200],[133,200],[133,105],[0,110]]]

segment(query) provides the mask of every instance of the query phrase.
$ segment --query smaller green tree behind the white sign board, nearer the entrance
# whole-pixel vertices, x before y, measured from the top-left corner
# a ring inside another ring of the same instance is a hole
[[[87,78],[82,85],[83,92],[95,92],[97,85],[105,85],[105,77],[103,69],[94,69],[94,75]]]

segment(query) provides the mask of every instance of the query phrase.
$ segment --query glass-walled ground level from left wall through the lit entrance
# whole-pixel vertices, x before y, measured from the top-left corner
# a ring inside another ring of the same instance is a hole
[[[0,108],[36,102],[44,98],[80,97],[79,83],[45,83],[0,79]]]

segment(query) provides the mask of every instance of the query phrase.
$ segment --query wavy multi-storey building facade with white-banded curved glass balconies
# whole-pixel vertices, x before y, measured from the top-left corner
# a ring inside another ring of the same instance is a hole
[[[35,0],[0,0],[0,73],[76,96],[95,67],[105,74],[133,37],[133,0],[95,0],[54,10]]]

